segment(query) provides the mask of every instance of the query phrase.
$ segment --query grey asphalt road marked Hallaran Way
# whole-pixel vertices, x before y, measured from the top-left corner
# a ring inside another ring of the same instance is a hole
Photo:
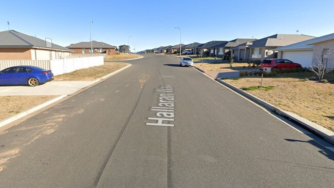
[[[334,185],[334,154],[262,108],[176,58],[129,62],[1,133],[0,187]]]

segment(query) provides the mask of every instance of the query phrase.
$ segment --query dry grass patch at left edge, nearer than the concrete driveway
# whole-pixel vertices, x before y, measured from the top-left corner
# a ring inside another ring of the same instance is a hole
[[[0,96],[0,121],[58,96]]]

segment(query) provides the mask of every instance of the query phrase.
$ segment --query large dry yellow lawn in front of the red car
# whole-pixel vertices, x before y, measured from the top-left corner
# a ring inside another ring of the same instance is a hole
[[[261,78],[225,80],[241,87],[258,86]],[[264,78],[264,86],[273,89],[247,91],[283,110],[297,114],[334,131],[334,84],[299,78]]]

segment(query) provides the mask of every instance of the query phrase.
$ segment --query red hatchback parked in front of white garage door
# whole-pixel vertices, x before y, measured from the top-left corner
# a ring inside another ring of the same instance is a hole
[[[260,64],[260,70],[263,70],[263,68],[271,68],[271,70],[281,70],[282,68],[303,68],[301,64],[294,63],[290,60],[286,59],[269,59],[269,60],[263,60]]]

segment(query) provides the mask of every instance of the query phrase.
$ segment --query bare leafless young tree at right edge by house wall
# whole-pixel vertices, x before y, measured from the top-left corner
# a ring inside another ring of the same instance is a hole
[[[326,73],[333,71],[334,62],[328,61],[328,56],[330,54],[330,48],[322,48],[321,56],[316,57],[316,60],[312,62],[312,65],[309,68],[309,70],[317,74],[319,80],[322,80]]]

